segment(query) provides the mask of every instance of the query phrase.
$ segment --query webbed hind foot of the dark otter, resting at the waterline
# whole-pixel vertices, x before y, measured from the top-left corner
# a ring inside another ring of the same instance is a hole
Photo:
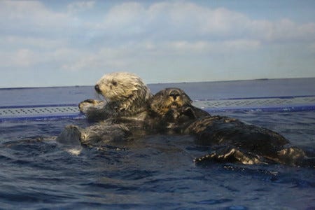
[[[209,155],[195,158],[194,162],[196,164],[204,164],[207,162],[239,162],[244,165],[265,164],[265,162],[260,160],[260,157],[258,155],[243,153],[237,148],[230,147],[219,148]]]

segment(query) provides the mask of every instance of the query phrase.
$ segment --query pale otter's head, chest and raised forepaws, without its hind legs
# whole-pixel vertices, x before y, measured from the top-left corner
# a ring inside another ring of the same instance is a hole
[[[87,99],[80,102],[79,109],[87,120],[99,122],[111,117],[144,117],[148,99],[152,96],[149,88],[134,73],[114,72],[100,78],[94,86],[107,102]]]

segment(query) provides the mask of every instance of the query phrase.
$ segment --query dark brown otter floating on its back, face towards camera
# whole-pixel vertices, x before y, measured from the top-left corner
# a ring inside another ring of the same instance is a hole
[[[195,144],[211,146],[211,153],[196,158],[196,163],[241,162],[242,164],[282,163],[308,165],[302,149],[272,130],[247,125],[235,118],[210,116],[191,104],[179,88],[167,88],[151,99],[151,109],[160,116],[165,130],[196,137]],[[311,166],[314,167],[314,164]]]

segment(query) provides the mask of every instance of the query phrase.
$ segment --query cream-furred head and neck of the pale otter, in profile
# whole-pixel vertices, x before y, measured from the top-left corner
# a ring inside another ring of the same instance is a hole
[[[94,89],[110,102],[116,102],[121,109],[143,106],[151,97],[151,92],[139,76],[134,73],[114,72],[104,75]],[[139,108],[139,107],[138,107]]]

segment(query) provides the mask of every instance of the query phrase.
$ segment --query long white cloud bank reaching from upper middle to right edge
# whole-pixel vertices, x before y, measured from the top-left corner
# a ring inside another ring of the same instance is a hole
[[[141,3],[119,4],[104,17],[102,29],[120,38],[140,37],[155,41],[248,38],[274,42],[309,41],[315,37],[314,23],[297,25],[288,19],[251,20],[226,8],[207,8],[185,1],[158,2],[147,8]]]

